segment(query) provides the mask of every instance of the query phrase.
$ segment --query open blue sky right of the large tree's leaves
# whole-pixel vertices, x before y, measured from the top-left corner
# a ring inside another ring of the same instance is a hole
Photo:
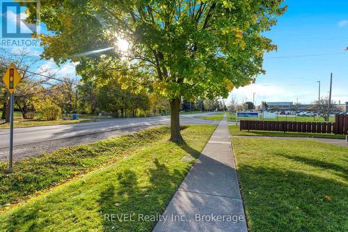
[[[328,95],[333,72],[333,95],[336,102],[348,102],[348,1],[287,0],[285,15],[265,35],[278,45],[278,52],[264,58],[266,75],[255,84],[235,89],[228,100],[292,101],[317,100],[318,83],[322,96]],[[338,53],[338,54],[337,54]],[[280,58],[281,56],[329,54]]]

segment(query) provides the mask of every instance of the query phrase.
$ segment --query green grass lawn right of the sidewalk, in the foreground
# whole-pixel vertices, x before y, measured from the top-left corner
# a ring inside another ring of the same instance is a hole
[[[348,231],[348,148],[233,138],[251,231]]]

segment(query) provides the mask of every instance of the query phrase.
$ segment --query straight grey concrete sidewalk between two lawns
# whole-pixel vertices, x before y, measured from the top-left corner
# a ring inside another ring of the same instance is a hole
[[[153,231],[247,231],[226,116]]]

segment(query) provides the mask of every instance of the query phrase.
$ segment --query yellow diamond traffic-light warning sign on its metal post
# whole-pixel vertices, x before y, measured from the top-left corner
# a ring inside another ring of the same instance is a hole
[[[13,105],[15,104],[15,88],[21,77],[12,63],[5,75],[3,75],[3,83],[10,93],[10,154],[8,155],[8,171],[13,171]]]

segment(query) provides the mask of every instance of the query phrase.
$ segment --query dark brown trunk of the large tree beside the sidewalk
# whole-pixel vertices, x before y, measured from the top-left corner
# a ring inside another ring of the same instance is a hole
[[[171,103],[171,141],[182,142],[182,136],[180,134],[180,98],[169,100]]]

